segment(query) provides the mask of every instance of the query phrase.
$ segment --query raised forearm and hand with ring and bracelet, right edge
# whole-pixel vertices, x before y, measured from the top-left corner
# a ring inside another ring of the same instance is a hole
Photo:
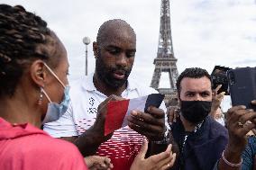
[[[256,101],[252,102],[256,104]],[[234,106],[227,112],[229,142],[219,160],[218,170],[238,170],[242,165],[242,151],[246,146],[246,134],[256,127],[256,112],[245,106]],[[251,121],[252,123],[245,123]],[[242,167],[244,168],[244,167]]]

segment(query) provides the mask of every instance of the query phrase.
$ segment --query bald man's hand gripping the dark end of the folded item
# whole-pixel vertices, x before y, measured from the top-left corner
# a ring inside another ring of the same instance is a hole
[[[128,117],[128,125],[150,140],[161,140],[165,132],[164,117],[162,110],[150,106],[147,113],[132,111]]]

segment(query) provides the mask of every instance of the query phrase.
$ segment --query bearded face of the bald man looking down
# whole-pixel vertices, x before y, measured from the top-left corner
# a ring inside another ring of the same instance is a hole
[[[97,76],[110,88],[123,86],[133,68],[135,37],[131,33],[117,31],[95,47]]]

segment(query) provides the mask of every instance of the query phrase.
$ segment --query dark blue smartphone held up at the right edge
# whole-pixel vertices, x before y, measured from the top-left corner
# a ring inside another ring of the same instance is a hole
[[[227,71],[229,93],[232,105],[245,105],[256,111],[251,104],[256,100],[256,67],[239,67]]]

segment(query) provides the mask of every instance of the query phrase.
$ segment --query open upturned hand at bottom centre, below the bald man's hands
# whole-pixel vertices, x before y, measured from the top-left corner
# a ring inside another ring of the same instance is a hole
[[[142,149],[135,157],[130,170],[165,170],[174,165],[176,154],[171,152],[171,145],[165,152],[145,159],[148,150],[148,141],[144,139]]]

